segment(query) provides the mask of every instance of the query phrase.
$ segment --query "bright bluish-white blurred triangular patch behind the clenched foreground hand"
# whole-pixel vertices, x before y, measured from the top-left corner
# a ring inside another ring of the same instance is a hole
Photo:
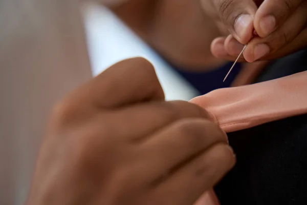
[[[102,5],[89,3],[81,11],[94,75],[119,60],[142,56],[155,66],[167,100],[189,100],[199,95],[197,90],[110,10]]]

